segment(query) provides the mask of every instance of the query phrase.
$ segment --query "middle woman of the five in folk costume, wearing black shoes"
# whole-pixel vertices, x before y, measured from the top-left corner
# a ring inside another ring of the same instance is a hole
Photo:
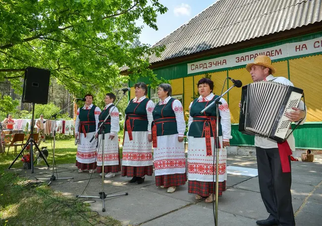
[[[125,109],[122,176],[133,177],[129,183],[141,184],[145,175],[152,176],[152,112],[154,103],[146,98],[144,82],[134,85],[135,98]]]

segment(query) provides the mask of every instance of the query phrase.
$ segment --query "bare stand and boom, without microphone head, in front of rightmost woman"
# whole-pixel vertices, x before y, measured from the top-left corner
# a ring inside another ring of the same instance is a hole
[[[235,87],[236,84],[234,83],[229,89],[227,89],[225,92],[223,92],[220,96],[218,96],[214,102],[212,102],[211,104],[209,104],[207,107],[205,107],[200,113],[204,113],[207,109],[209,109],[211,106],[213,106],[214,104],[216,105],[216,138],[215,138],[215,153],[216,153],[216,182],[215,182],[215,193],[216,193],[216,199],[215,199],[215,226],[218,226],[218,170],[219,170],[219,165],[218,165],[218,161],[219,161],[219,104],[221,104],[221,102],[219,101],[220,98],[222,96],[224,96],[227,92],[229,92],[230,89],[232,89],[233,87]],[[215,155],[214,155],[214,160],[215,160]],[[213,193],[214,196],[214,193]],[[214,199],[214,197],[213,197]]]

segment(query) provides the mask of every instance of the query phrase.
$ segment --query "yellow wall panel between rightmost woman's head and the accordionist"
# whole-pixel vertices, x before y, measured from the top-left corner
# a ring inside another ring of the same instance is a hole
[[[234,78],[235,80],[241,80],[243,85],[247,85],[253,82],[251,75],[245,68],[236,69],[228,71],[228,76]],[[232,85],[232,82],[229,82],[229,87]],[[241,88],[232,88],[229,91],[229,110],[231,115],[231,123],[239,122],[239,101],[241,97]],[[226,99],[226,98],[225,98]]]

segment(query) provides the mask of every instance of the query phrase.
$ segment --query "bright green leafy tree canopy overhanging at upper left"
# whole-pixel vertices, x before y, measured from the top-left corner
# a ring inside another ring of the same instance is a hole
[[[9,79],[21,90],[27,66],[47,68],[74,94],[108,89],[130,78],[156,77],[148,56],[164,47],[132,42],[139,38],[142,19],[158,29],[157,13],[167,8],[158,0],[2,0],[0,4],[0,81]],[[111,79],[112,78],[112,79]]]

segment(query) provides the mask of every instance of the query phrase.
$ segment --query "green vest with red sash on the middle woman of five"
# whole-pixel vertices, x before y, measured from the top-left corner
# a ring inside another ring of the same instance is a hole
[[[129,105],[125,109],[125,131],[128,131],[127,120],[130,122],[132,131],[148,131],[147,104],[150,99],[145,98],[140,103],[130,100]]]

